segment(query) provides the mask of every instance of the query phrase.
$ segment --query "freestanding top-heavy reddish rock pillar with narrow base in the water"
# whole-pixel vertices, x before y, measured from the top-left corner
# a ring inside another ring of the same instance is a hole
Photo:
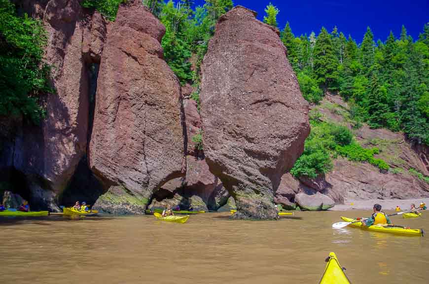
[[[203,61],[200,97],[206,161],[234,196],[234,216],[274,219],[274,193],[310,130],[278,31],[242,6],[223,15]]]

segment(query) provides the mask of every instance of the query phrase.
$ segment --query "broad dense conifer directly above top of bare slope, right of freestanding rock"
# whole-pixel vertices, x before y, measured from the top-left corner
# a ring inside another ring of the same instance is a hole
[[[314,74],[318,82],[327,87],[333,87],[338,79],[338,60],[325,28],[322,28],[314,47]]]

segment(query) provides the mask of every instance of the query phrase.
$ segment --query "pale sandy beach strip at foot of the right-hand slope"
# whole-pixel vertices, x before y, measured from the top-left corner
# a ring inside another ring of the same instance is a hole
[[[344,204],[335,205],[329,210],[371,210],[376,203],[380,204],[383,210],[394,210],[396,206],[399,206],[402,210],[406,210],[410,208],[411,203],[414,203],[418,207],[422,201],[429,205],[429,198],[346,200]]]

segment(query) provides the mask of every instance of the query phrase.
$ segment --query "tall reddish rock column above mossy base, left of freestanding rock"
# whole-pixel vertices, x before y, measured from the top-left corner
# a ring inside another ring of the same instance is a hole
[[[125,188],[115,194],[142,201],[135,213],[165,182],[184,175],[180,85],[162,59],[164,33],[142,1],[121,5],[98,77],[90,167],[105,184]]]

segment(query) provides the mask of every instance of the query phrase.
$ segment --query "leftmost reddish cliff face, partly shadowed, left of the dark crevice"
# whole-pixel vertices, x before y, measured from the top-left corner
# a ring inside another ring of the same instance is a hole
[[[24,0],[17,1],[17,7],[44,23],[48,34],[45,59],[53,66],[52,86],[56,92],[43,97],[47,116],[40,127],[23,125],[17,129],[12,166],[29,180],[30,204],[58,210],[56,197],[87,147],[88,70],[92,62],[83,58],[82,45],[91,16],[82,11],[79,0]],[[97,18],[93,26],[105,29],[101,15],[95,13],[92,17]],[[96,47],[100,56],[103,40],[100,34],[89,50]]]

